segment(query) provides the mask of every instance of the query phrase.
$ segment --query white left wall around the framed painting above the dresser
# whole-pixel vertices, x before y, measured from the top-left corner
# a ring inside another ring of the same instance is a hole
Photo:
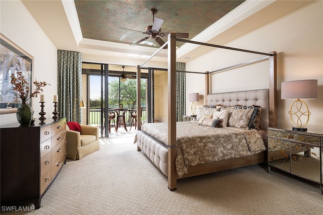
[[[50,84],[43,88],[45,95],[45,117],[53,116],[53,95],[57,94],[57,48],[48,39],[34,18],[20,1],[1,1],[1,33],[33,56],[33,81]],[[40,115],[40,96],[33,98],[34,117]],[[17,122],[16,114],[0,115],[0,124]]]

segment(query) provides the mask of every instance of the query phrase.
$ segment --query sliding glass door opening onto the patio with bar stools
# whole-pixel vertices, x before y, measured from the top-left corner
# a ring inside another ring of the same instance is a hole
[[[86,75],[86,122],[99,127],[100,137],[113,136],[117,132],[129,132],[131,125],[131,113],[137,111],[137,81],[136,67],[111,64],[83,63],[82,73]],[[83,76],[84,77],[84,76]],[[83,79],[83,78],[82,78]],[[147,86],[148,72],[141,76],[141,121],[151,121],[151,114],[147,116]],[[85,82],[83,82],[84,85]],[[151,86],[151,85],[150,85]],[[83,86],[84,87],[84,86]],[[151,100],[151,99],[149,99]],[[112,127],[109,132],[109,112],[115,113],[113,125],[117,126],[117,111],[122,109],[125,115],[125,126]]]

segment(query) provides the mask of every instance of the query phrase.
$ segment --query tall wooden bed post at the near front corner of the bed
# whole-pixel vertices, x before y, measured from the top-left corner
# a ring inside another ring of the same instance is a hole
[[[176,38],[168,35],[168,188],[177,187],[176,159]]]

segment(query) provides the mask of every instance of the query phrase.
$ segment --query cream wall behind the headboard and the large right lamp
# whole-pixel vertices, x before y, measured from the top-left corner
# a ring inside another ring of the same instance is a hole
[[[291,3],[292,4],[292,3]],[[260,52],[278,53],[278,125],[293,126],[288,110],[291,100],[280,99],[281,83],[317,79],[318,98],[306,100],[311,115],[307,128],[323,130],[323,2],[315,1],[303,8],[245,34],[226,46]],[[188,71],[212,71],[260,55],[214,49],[186,63]],[[268,88],[267,64],[262,61],[232,71],[212,75],[211,93]],[[256,80],[256,81],[255,81]],[[233,83],[233,84],[232,84]],[[187,74],[187,96],[204,94],[204,77]],[[204,101],[197,103],[202,106]],[[190,103],[187,102],[189,113]]]

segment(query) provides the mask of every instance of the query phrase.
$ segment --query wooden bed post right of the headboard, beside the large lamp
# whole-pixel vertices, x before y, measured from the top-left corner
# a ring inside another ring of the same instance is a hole
[[[277,52],[269,56],[269,126],[277,126]]]

